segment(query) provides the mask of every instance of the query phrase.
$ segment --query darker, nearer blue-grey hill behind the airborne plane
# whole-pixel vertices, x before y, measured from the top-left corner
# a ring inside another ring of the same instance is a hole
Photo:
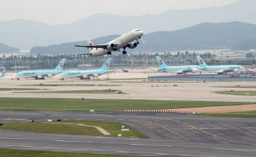
[[[104,36],[92,40],[94,44],[105,44],[115,36]],[[145,44],[129,52],[138,51],[179,51],[191,49],[251,49],[256,48],[256,25],[248,23],[201,23],[179,31],[158,31],[142,37]],[[86,44],[78,41],[76,44]],[[77,54],[89,52],[82,47],[69,43],[48,47],[33,47],[31,54]]]

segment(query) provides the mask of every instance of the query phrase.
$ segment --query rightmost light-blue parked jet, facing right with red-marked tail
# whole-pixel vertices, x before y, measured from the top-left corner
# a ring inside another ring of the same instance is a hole
[[[244,67],[241,65],[208,66],[199,55],[197,55],[197,60],[199,62],[201,71],[215,71],[218,73],[230,73],[230,72],[237,73],[238,71],[244,71]]]

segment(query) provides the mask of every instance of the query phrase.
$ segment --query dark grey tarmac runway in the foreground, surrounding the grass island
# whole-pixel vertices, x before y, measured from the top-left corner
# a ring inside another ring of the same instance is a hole
[[[0,147],[124,156],[255,156],[254,118],[184,116],[167,113],[39,113],[0,111],[0,121],[51,119],[116,121],[149,138],[93,137],[0,129]]]

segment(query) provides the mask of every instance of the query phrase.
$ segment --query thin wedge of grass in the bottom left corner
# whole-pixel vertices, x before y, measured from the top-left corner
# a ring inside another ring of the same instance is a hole
[[[7,150],[0,149],[1,157],[128,157],[128,156],[111,156],[101,154],[88,153],[61,153],[49,151],[35,151],[35,150]]]

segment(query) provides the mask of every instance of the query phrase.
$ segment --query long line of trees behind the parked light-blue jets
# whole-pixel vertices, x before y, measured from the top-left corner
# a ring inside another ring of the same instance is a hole
[[[101,66],[105,63],[108,57],[112,57],[110,66],[131,66],[131,67],[158,67],[156,56],[162,58],[167,65],[198,65],[197,53],[189,52],[177,52],[175,55],[170,53],[140,53],[140,54],[128,54],[128,55],[111,55],[101,57],[88,57],[86,55],[10,55],[6,57],[3,55],[0,57],[0,66],[5,67],[7,70],[13,69],[15,63],[17,67],[27,67],[30,69],[52,69],[56,68],[56,65],[61,61],[62,58],[66,58],[64,68],[78,68],[87,66]],[[211,53],[200,54],[200,57],[208,65],[252,65],[256,64],[254,58],[249,58],[247,61],[239,60],[215,60],[215,56]]]

